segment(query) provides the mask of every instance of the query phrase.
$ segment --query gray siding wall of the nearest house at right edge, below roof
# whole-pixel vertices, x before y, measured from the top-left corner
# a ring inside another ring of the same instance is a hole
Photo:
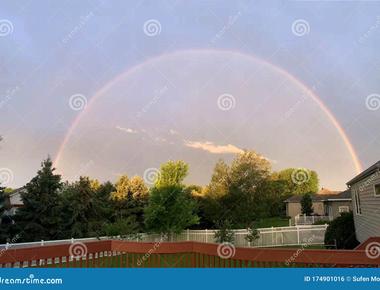
[[[380,236],[380,196],[375,196],[374,191],[378,183],[380,173],[376,172],[351,186],[356,238],[361,243],[369,237]],[[361,214],[357,214],[355,194],[360,196]]]

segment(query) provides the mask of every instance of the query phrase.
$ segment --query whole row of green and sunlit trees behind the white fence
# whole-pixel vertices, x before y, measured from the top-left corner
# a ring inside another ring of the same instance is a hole
[[[317,192],[317,173],[299,171],[273,172],[269,160],[244,151],[231,164],[218,161],[206,186],[186,185],[188,164],[169,161],[148,187],[140,176],[127,175],[115,184],[86,176],[63,181],[47,158],[20,191],[24,205],[14,216],[4,214],[9,190],[0,187],[0,240],[16,235],[22,242],[139,232],[167,235],[186,228],[253,228],[259,219],[284,216],[289,196]]]

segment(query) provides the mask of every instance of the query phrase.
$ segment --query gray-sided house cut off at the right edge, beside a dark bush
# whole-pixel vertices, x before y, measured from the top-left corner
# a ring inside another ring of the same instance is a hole
[[[356,238],[380,236],[380,161],[347,182],[352,193]]]

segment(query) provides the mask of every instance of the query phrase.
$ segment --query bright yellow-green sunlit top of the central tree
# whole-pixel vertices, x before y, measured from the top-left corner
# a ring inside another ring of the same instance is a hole
[[[155,187],[182,185],[188,172],[189,165],[184,161],[168,161],[161,165]]]

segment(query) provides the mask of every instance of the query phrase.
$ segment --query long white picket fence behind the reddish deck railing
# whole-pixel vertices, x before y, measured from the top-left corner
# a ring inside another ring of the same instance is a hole
[[[237,247],[280,247],[280,246],[297,246],[297,245],[322,245],[324,244],[324,237],[327,225],[303,225],[303,226],[290,226],[290,227],[272,227],[257,229],[259,238],[253,243],[246,240],[248,231],[246,229],[233,230],[234,244]],[[173,234],[168,237],[170,242],[179,241],[194,241],[203,243],[215,243],[215,232],[217,230],[185,230],[181,234]],[[40,241],[31,243],[13,243],[0,245],[0,249],[8,248],[27,248],[38,246],[51,246],[70,243],[86,243],[91,241],[106,240],[111,237],[100,238],[85,238],[85,239],[68,239],[68,240],[54,240],[54,241]],[[121,237],[113,237],[121,239]],[[159,234],[146,234],[141,233],[123,238],[126,240],[133,240],[139,242],[158,242],[162,240]]]

